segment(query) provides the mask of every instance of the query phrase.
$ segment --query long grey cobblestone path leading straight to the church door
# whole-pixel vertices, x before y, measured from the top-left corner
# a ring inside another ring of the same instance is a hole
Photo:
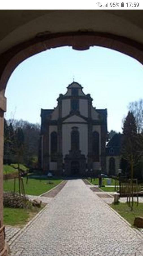
[[[82,180],[70,180],[12,244],[21,256],[142,256],[139,236]]]

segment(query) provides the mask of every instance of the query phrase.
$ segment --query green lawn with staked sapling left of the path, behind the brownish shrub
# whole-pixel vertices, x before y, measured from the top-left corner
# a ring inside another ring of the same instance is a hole
[[[48,184],[48,181],[53,182],[53,184]],[[62,179],[54,179],[54,178],[47,178],[47,179],[28,179],[28,184],[26,184],[26,178],[23,178],[25,194],[27,195],[41,195],[44,192],[52,189],[53,187],[57,186]],[[3,182],[4,191],[14,191],[14,179],[8,179],[8,181]],[[16,179],[16,191],[18,192],[18,179]]]

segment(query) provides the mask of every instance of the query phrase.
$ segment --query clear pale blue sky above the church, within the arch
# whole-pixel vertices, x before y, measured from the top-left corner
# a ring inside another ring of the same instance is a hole
[[[6,88],[6,119],[40,123],[40,109],[57,106],[60,93],[74,80],[90,93],[93,106],[107,108],[108,131],[122,131],[129,102],[143,96],[143,66],[135,59],[102,47],[76,51],[50,49],[23,61]]]

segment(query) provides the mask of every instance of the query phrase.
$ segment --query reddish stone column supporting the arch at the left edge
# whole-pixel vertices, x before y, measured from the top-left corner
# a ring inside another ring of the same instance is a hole
[[[3,135],[4,112],[6,111],[6,98],[0,92],[0,256],[7,255],[5,245],[5,227],[3,225]]]

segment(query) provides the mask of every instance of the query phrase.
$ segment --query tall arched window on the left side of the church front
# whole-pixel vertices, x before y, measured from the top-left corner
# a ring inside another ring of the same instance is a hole
[[[57,133],[51,133],[51,162],[57,162]]]

